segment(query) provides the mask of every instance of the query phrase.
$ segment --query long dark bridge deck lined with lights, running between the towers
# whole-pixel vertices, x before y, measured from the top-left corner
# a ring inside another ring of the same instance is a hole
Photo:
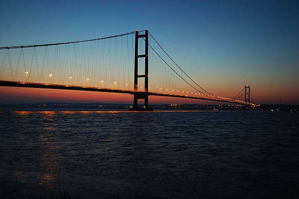
[[[25,88],[51,88],[51,89],[65,89],[65,90],[85,90],[85,91],[97,91],[97,92],[115,92],[115,93],[127,93],[134,95],[154,95],[154,96],[164,96],[164,97],[179,97],[179,98],[190,98],[190,99],[200,99],[200,100],[210,100],[217,102],[228,102],[233,104],[244,104],[248,103],[238,103],[232,102],[229,100],[222,99],[211,99],[205,97],[193,97],[187,95],[173,95],[173,94],[164,94],[156,92],[141,92],[141,91],[132,91],[132,90],[121,90],[121,89],[111,89],[111,88],[95,88],[95,87],[79,87],[79,86],[70,86],[70,85],[55,85],[55,84],[41,84],[41,83],[26,83],[26,82],[11,82],[11,81],[0,81],[0,86],[2,87],[25,87]],[[250,104],[255,106],[254,104]]]

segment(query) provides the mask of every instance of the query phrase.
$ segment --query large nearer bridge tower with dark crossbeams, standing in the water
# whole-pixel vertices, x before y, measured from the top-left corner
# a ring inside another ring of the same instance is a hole
[[[138,39],[145,38],[145,54],[138,55]],[[138,75],[138,59],[145,59],[145,74]],[[135,32],[135,66],[134,66],[134,91],[138,91],[138,78],[144,78],[144,92],[134,94],[134,105],[129,111],[152,111],[149,108],[149,32],[145,30],[145,34],[140,35],[138,30]],[[144,99],[144,106],[138,108],[138,99]]]

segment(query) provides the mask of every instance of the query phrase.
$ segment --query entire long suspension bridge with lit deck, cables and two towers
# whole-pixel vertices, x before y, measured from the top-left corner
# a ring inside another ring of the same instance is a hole
[[[91,40],[0,47],[0,86],[134,95],[132,111],[150,111],[150,95],[256,106],[250,87],[232,98],[201,87],[145,29]],[[245,100],[241,99],[245,96]],[[138,107],[138,100],[144,106]]]

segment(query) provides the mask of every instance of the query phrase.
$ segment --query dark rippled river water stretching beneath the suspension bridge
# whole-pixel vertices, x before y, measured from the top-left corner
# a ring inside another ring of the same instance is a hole
[[[28,195],[288,198],[298,127],[294,112],[2,111],[0,179]]]

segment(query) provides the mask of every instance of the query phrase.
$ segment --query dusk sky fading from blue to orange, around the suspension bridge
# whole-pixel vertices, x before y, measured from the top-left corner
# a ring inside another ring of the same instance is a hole
[[[298,10],[298,0],[2,1],[0,46],[78,41],[147,28],[212,93],[233,97],[250,85],[255,103],[299,104]],[[0,87],[0,104],[132,100],[129,94]],[[150,97],[151,103],[209,102]]]

